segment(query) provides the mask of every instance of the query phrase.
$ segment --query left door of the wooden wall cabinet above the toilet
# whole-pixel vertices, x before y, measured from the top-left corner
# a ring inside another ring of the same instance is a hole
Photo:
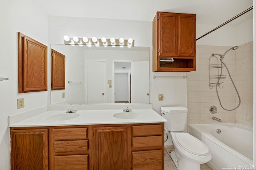
[[[159,56],[177,56],[177,14],[164,12],[159,14],[159,34]]]

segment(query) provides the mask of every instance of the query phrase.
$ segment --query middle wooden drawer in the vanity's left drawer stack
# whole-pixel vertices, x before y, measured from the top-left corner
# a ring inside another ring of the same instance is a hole
[[[88,150],[88,140],[81,141],[56,141],[54,152],[61,154],[85,154]]]

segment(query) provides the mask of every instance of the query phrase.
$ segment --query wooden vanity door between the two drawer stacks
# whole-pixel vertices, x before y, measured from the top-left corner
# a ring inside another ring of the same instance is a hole
[[[94,128],[98,170],[126,169],[126,127]]]

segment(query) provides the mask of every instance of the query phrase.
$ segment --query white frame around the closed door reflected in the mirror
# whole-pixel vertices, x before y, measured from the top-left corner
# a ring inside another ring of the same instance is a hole
[[[104,59],[85,59],[84,60],[84,103],[88,104],[88,100],[87,100],[87,62],[88,61],[104,61],[105,62],[105,103],[107,102],[107,86],[106,86],[106,82],[107,82],[107,60]]]

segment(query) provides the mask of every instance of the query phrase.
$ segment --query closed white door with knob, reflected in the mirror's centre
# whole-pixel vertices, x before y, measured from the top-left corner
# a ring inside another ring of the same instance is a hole
[[[86,61],[86,103],[105,103],[105,68],[105,61]]]

